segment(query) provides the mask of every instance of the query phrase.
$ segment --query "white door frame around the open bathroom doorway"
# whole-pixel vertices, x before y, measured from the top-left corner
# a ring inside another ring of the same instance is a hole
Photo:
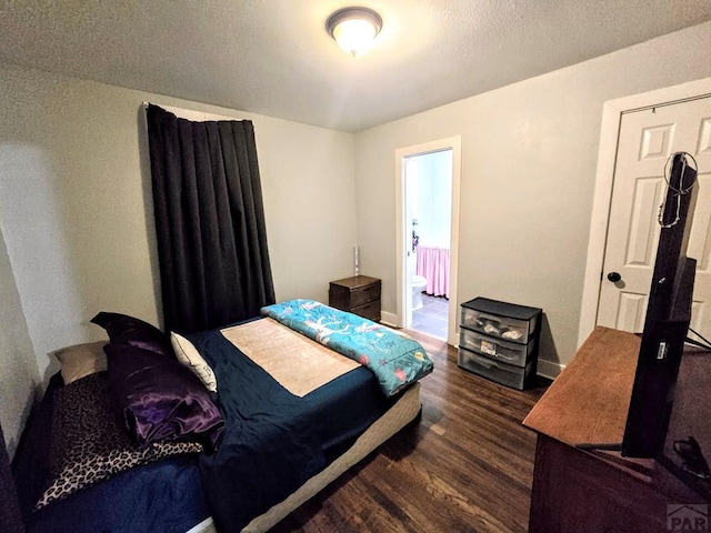
[[[404,324],[404,310],[407,289],[409,286],[405,269],[405,253],[408,245],[411,245],[405,232],[410,230],[403,223],[404,218],[404,164],[407,158],[422,155],[425,153],[452,150],[452,220],[450,225],[450,250],[449,250],[449,320],[447,342],[457,345],[457,275],[459,257],[459,198],[461,181],[461,145],[460,135],[439,139],[435,141],[415,144],[412,147],[399,148],[395,150],[395,292],[397,292],[397,324],[402,328]]]

